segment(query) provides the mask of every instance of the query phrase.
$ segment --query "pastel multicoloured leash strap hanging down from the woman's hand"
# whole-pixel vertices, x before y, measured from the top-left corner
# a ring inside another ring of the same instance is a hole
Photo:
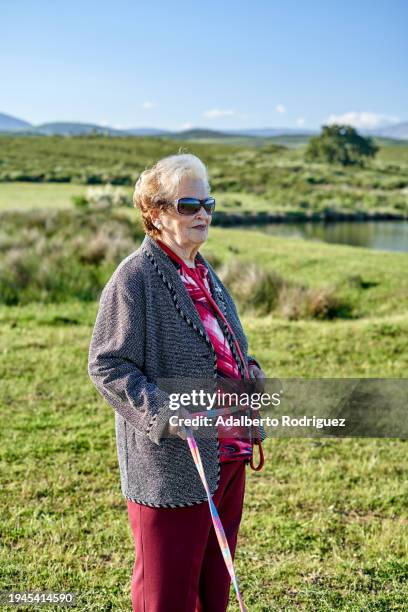
[[[217,508],[215,507],[214,501],[211,497],[210,489],[208,487],[207,479],[205,477],[204,467],[201,461],[200,451],[198,450],[197,442],[194,438],[193,432],[190,427],[185,427],[187,434],[187,442],[190,447],[191,454],[194,459],[197,471],[200,474],[201,481],[203,483],[205,492],[207,494],[208,504],[210,506],[211,518],[214,525],[214,530],[217,536],[218,544],[224,557],[225,565],[227,566],[228,573],[231,577],[232,584],[234,585],[235,593],[238,599],[240,612],[248,612],[242,600],[241,593],[238,588],[238,580],[235,575],[234,563],[232,561],[232,555],[228,546],[228,540],[225,535],[224,527],[222,526],[221,519],[219,517]]]

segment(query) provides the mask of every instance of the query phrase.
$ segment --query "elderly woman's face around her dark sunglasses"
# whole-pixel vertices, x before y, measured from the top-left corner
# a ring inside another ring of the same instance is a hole
[[[209,195],[208,187],[203,179],[184,177],[180,181],[176,200],[186,197],[203,200],[208,198]],[[162,223],[162,235],[167,234],[173,242],[181,247],[194,247],[205,242],[212,219],[203,207],[194,215],[180,215],[175,206],[160,211],[158,218]]]

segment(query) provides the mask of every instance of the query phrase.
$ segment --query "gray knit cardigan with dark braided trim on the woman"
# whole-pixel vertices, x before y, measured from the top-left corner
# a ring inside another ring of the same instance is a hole
[[[230,294],[199,252],[197,259],[208,268],[213,297],[249,360],[247,338]],[[231,348],[242,372],[242,363]],[[206,500],[187,441],[162,437],[175,412],[157,381],[183,377],[186,372],[189,377],[211,379],[216,377],[216,361],[177,268],[146,235],[102,291],[88,357],[92,382],[115,410],[121,490],[126,499],[157,508]],[[262,431],[261,440],[264,437]],[[218,440],[216,436],[196,439],[213,494],[220,479]]]

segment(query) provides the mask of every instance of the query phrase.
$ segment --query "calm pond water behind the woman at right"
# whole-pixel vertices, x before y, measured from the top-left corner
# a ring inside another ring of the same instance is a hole
[[[268,223],[248,225],[248,229],[284,236],[322,240],[334,244],[408,252],[408,221],[331,221]]]

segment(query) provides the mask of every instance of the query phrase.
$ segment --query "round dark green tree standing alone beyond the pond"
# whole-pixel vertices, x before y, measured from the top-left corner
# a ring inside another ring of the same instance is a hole
[[[374,157],[378,146],[372,138],[360,136],[350,125],[323,125],[322,133],[309,140],[306,161],[323,161],[343,166],[364,165]]]

